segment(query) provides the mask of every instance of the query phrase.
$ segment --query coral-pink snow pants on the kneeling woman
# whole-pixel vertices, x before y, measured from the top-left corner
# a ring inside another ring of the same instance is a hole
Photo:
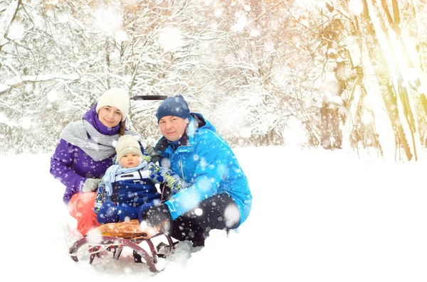
[[[95,197],[96,192],[75,193],[68,203],[68,212],[77,219],[77,229],[83,236],[100,226],[94,211]]]

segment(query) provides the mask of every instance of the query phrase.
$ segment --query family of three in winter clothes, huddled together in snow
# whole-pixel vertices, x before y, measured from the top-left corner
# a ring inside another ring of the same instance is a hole
[[[228,143],[181,94],[156,112],[162,137],[143,148],[127,129],[126,90],[105,91],[60,134],[51,174],[65,185],[63,202],[78,231],[138,219],[176,240],[204,246],[211,229],[236,229],[251,212],[248,180]],[[155,184],[166,188],[159,192]]]

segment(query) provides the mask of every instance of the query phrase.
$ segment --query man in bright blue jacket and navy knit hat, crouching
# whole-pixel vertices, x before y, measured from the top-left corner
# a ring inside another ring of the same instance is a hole
[[[201,114],[190,113],[179,94],[164,100],[156,116],[163,136],[147,151],[188,186],[142,212],[139,222],[164,223],[164,232],[194,246],[204,246],[211,229],[239,227],[251,212],[252,195],[228,143]]]

